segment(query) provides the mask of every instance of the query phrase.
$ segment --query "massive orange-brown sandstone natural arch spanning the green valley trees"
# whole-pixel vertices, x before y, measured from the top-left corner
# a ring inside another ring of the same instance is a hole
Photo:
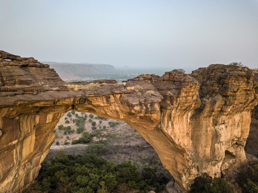
[[[221,176],[246,161],[258,101],[248,68],[214,64],[191,76],[142,74],[128,80],[130,90],[99,82],[74,91],[49,65],[0,51],[0,73],[0,192],[21,192],[34,181],[53,129],[70,110],[131,125],[154,147],[178,192],[203,172]]]

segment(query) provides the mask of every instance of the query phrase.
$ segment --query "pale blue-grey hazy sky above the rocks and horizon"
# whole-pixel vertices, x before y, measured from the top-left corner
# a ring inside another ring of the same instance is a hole
[[[39,61],[258,68],[258,0],[1,1],[0,50]]]

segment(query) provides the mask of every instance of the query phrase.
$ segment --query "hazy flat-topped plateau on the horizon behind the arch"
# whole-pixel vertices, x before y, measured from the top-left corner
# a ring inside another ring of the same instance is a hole
[[[85,74],[98,74],[114,72],[115,68],[109,64],[90,64],[90,63],[58,63],[58,62],[42,62],[49,64],[50,68],[54,68],[59,75],[75,74],[77,76],[85,76]]]

